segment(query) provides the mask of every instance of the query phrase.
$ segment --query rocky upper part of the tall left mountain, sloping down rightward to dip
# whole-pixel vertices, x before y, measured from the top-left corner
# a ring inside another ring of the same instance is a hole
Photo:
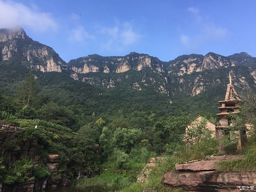
[[[65,61],[49,46],[33,41],[22,28],[0,29],[0,62],[19,62],[42,72],[61,72]]]

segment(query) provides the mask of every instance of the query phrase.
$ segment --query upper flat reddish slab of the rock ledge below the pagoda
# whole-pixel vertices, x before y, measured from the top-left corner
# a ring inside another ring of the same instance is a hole
[[[208,160],[196,161],[194,162],[185,162],[182,164],[176,164],[176,170],[191,170],[191,171],[200,171],[200,170],[215,170],[216,165],[221,161],[232,161],[234,159],[242,159],[245,155],[223,155],[223,156],[212,156],[207,157]]]

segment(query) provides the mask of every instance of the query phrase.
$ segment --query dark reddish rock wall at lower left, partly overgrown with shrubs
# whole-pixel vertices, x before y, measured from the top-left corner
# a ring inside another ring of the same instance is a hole
[[[31,158],[34,167],[27,171],[26,175],[28,179],[23,182],[7,184],[0,180],[0,192],[37,192],[44,191],[47,185],[51,188],[67,186],[69,183],[67,174],[62,172],[59,176],[61,168],[59,165],[59,155],[40,154],[38,139],[27,139],[22,142],[19,140],[18,142],[19,136],[16,133],[19,131],[22,131],[22,128],[0,125],[0,151],[5,152],[4,162],[11,165],[11,163],[14,163],[20,158]],[[49,177],[32,177],[33,169],[39,165],[39,162],[45,163],[50,173]],[[94,163],[94,166],[97,167],[97,163]],[[87,172],[84,170],[79,171],[79,177],[77,177],[78,173],[74,172],[74,178],[78,179],[95,175],[96,172],[90,167],[91,165],[88,163]]]

